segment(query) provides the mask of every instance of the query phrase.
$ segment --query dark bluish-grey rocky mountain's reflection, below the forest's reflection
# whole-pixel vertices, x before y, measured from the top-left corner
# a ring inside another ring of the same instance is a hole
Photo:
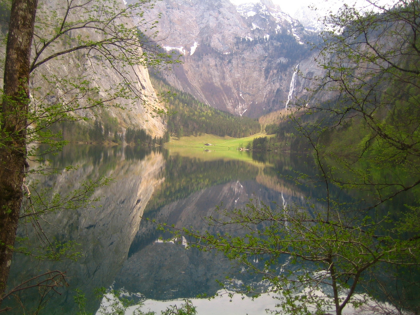
[[[299,202],[299,198],[278,194],[255,180],[230,181],[226,184],[202,189],[189,197],[178,199],[150,213],[150,219],[166,222],[177,228],[194,226],[201,231],[223,232],[220,226],[208,226],[204,219],[216,215],[215,207],[223,203],[223,208],[245,207],[250,198],[270,204],[276,202]],[[275,206],[274,204],[272,204]],[[246,231],[229,231],[243,235]],[[196,297],[198,294],[214,295],[225,276],[234,276],[241,283],[258,283],[260,276],[243,273],[240,265],[227,260],[223,254],[202,252],[186,248],[184,244],[161,243],[163,236],[156,231],[155,224],[143,220],[130,247],[129,257],[115,279],[115,287],[130,292],[141,292],[149,299],[178,299]],[[233,268],[232,268],[233,267]]]

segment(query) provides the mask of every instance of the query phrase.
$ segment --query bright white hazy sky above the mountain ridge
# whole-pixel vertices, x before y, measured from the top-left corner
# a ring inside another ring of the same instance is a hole
[[[238,5],[241,3],[258,2],[258,0],[230,0],[231,3]],[[315,6],[321,12],[327,12],[329,10],[338,9],[344,3],[353,5],[357,3],[360,8],[366,7],[367,2],[365,0],[272,0],[274,4],[280,6],[283,12],[289,13],[293,16],[297,9],[301,7],[307,7],[309,5]],[[391,3],[395,0],[381,0],[382,3]]]

